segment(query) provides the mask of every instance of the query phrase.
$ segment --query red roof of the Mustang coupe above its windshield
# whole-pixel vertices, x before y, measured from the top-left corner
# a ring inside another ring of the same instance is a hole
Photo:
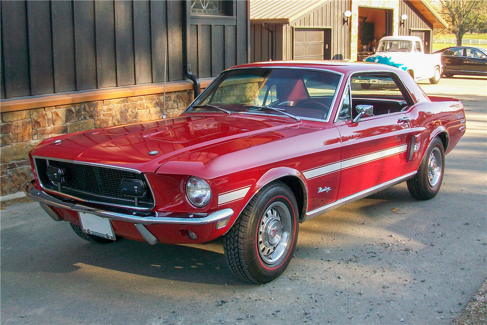
[[[255,62],[237,65],[228,70],[241,69],[241,68],[314,68],[314,69],[326,69],[336,71],[342,74],[349,72],[374,72],[374,71],[392,71],[397,72],[400,70],[396,67],[377,64],[373,62],[348,62],[348,61],[267,61],[267,62]]]

